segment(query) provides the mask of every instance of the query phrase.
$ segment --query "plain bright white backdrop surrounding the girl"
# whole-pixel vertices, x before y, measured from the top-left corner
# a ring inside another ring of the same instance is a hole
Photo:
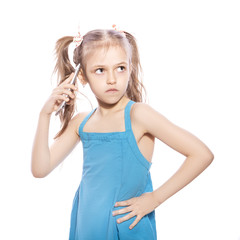
[[[156,209],[158,239],[240,239],[239,1],[14,0],[0,11],[0,239],[68,238],[81,143],[44,179],[33,178],[30,162],[38,114],[55,86],[55,42],[75,35],[79,22],[83,34],[113,23],[132,33],[148,104],[214,153],[206,171]],[[50,142],[58,128],[53,117]],[[154,189],[184,159],[156,139]]]

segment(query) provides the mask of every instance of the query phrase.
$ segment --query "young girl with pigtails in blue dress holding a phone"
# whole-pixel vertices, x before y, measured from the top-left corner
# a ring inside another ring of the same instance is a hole
[[[32,150],[32,173],[42,178],[82,141],[82,179],[73,200],[69,239],[155,240],[155,209],[197,177],[213,153],[197,137],[142,101],[135,38],[127,32],[94,30],[75,38],[78,79],[89,84],[98,107],[73,117],[76,86],[68,57],[73,37],[57,41],[59,84],[44,104]],[[62,101],[62,128],[48,146],[51,114]],[[153,191],[150,175],[155,138],[186,156],[179,170]]]

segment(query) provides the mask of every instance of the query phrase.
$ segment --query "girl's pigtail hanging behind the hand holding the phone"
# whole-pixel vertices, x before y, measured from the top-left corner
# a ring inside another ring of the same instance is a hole
[[[54,67],[53,73],[57,73],[57,83],[58,86],[65,81],[72,72],[74,72],[74,67],[72,66],[69,57],[68,57],[68,47],[70,43],[72,43],[73,37],[66,36],[60,38],[56,42],[55,46],[55,57],[56,57],[56,65]],[[61,121],[61,130],[57,133],[54,139],[60,137],[62,133],[67,128],[69,121],[71,120],[74,111],[75,111],[75,101],[74,104],[68,105],[66,104],[64,109],[59,113],[60,121]]]

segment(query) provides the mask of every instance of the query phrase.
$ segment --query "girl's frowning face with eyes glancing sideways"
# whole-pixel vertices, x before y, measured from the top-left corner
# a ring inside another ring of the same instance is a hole
[[[114,104],[126,93],[130,78],[129,58],[120,46],[110,46],[108,50],[97,48],[87,57],[85,69],[99,103]]]

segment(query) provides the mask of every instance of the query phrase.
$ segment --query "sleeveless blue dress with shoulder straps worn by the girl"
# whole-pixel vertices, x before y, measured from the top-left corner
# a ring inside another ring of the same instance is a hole
[[[93,109],[79,126],[83,145],[83,170],[75,194],[70,224],[70,240],[156,240],[155,210],[145,215],[133,229],[129,226],[136,216],[117,223],[129,214],[112,216],[112,212],[127,206],[114,207],[124,201],[152,192],[151,164],[140,152],[130,119],[135,102],[124,109],[124,132],[83,132]]]

